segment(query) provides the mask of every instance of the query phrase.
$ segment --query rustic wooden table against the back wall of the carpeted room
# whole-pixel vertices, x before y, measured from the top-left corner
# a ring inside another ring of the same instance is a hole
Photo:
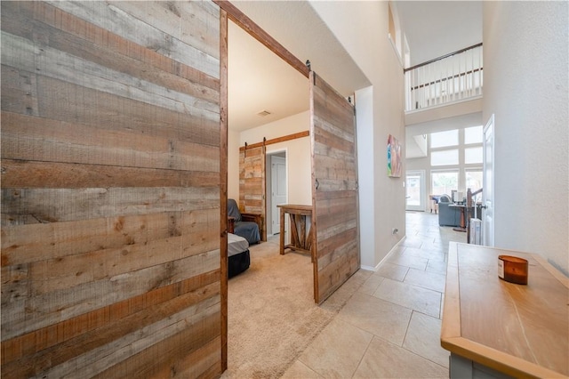
[[[312,206],[280,205],[281,208],[281,254],[285,249],[308,253],[312,256],[312,228],[307,230],[306,217],[312,218]],[[284,214],[289,214],[291,224],[291,243],[284,245]]]

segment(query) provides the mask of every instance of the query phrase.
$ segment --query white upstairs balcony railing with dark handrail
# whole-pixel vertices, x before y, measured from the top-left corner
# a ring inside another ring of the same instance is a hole
[[[405,69],[405,110],[482,95],[482,43]]]

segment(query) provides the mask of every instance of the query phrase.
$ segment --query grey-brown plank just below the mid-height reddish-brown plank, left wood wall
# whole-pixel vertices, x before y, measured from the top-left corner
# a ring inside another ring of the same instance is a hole
[[[33,214],[42,222],[219,209],[219,201],[217,187],[2,189],[3,214]]]

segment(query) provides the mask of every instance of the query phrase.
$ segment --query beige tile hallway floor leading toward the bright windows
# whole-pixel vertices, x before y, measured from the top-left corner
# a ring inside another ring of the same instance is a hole
[[[437,214],[406,214],[406,238],[366,279],[284,378],[448,377],[440,347],[449,241]]]

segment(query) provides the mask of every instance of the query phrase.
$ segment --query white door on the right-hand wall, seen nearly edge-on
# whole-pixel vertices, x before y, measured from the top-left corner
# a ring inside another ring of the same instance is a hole
[[[484,128],[482,184],[482,244],[494,246],[494,115]]]

